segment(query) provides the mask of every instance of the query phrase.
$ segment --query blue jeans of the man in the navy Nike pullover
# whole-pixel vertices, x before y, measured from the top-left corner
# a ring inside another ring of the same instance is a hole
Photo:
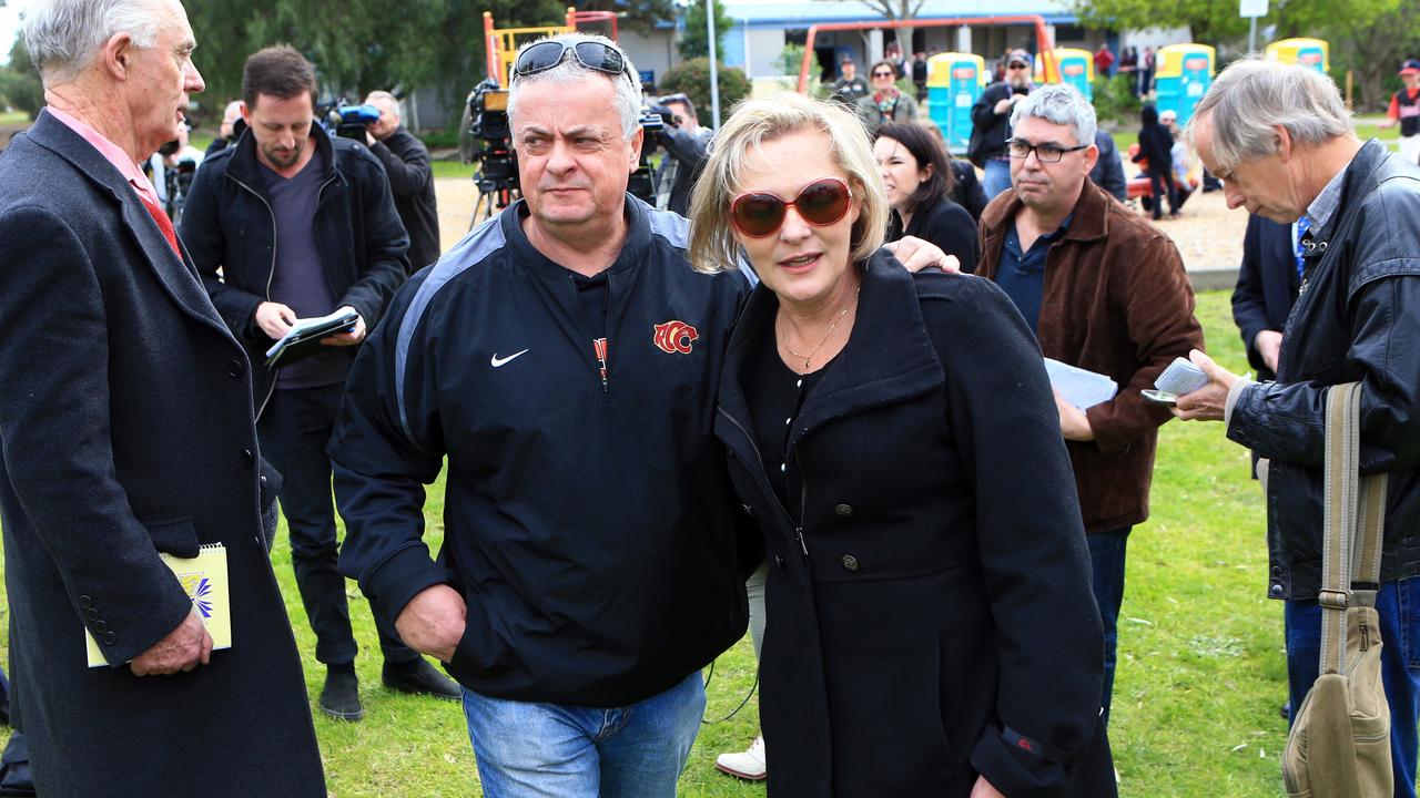
[[[463,692],[487,798],[674,798],[704,709],[699,672],[659,696],[612,709]]]

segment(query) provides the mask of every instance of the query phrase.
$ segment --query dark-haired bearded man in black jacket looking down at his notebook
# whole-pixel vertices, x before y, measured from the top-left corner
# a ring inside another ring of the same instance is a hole
[[[321,711],[359,720],[365,710],[345,579],[337,569],[325,446],[355,345],[405,281],[409,240],[379,162],[364,145],[312,125],[315,70],[300,53],[268,47],[247,58],[241,94],[248,131],[199,172],[183,240],[212,302],[253,364],[257,433],[284,477],[280,498],[291,564],[315,632],[315,659],[328,669]],[[358,318],[348,332],[322,341],[325,352],[280,371],[256,365],[297,319],[337,310]],[[385,684],[456,697],[456,686],[399,640],[388,615],[371,609]]]

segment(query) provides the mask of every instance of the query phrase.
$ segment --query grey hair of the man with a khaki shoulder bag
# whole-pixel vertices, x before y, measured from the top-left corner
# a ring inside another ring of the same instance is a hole
[[[1301,64],[1260,57],[1234,61],[1213,81],[1189,122],[1213,125],[1213,159],[1228,175],[1251,158],[1277,152],[1281,126],[1296,143],[1321,145],[1350,132],[1350,115],[1332,80]]]

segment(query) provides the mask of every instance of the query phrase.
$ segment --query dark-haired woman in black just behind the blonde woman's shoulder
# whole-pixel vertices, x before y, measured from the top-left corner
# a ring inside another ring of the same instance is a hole
[[[889,122],[878,128],[873,159],[892,207],[888,240],[924,239],[956,256],[961,271],[976,271],[981,254],[976,220],[950,199],[951,168],[937,139],[922,125]]]

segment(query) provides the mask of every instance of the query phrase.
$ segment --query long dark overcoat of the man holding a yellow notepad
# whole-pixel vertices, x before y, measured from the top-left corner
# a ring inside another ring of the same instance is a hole
[[[263,527],[241,346],[122,175],[50,114],[0,156],[0,520],[14,710],[45,798],[325,795]],[[125,662],[227,551],[230,650]],[[85,666],[84,628],[109,667]]]

